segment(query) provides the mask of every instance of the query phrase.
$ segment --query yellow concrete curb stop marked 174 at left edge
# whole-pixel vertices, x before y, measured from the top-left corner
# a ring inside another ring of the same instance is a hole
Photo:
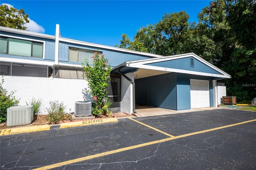
[[[8,135],[8,134],[26,133],[26,132],[37,132],[42,130],[50,130],[50,125],[1,129],[0,136]]]

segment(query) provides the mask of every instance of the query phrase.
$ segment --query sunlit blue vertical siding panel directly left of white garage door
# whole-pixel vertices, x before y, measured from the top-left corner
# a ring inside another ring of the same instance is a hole
[[[177,110],[190,109],[190,76],[177,74]]]

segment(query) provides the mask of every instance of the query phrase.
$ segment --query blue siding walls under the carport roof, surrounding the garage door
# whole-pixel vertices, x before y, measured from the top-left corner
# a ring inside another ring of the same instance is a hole
[[[167,73],[144,79],[135,80],[136,103],[140,103],[138,82],[147,82],[148,105],[173,110],[190,109],[190,79],[201,79],[209,81],[210,107],[213,107],[213,89],[211,77],[200,75],[188,75],[182,73]],[[145,84],[145,83],[144,83]]]

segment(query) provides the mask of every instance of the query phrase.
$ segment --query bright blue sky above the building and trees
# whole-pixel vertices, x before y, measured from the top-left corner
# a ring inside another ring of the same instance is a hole
[[[55,35],[60,25],[63,38],[114,46],[121,35],[130,40],[141,26],[158,23],[165,13],[185,10],[189,22],[198,22],[197,15],[211,0],[1,0],[23,9],[31,20],[28,30]]]

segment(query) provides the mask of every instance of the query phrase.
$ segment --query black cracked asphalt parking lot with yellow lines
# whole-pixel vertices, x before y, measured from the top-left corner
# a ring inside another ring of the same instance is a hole
[[[256,112],[216,109],[0,137],[1,169],[256,169]]]

